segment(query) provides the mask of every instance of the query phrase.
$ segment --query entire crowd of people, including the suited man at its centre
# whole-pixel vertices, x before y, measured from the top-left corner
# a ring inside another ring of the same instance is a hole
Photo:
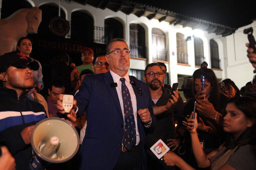
[[[31,52],[31,40],[21,38],[16,51],[0,56],[0,169],[30,169],[31,132],[40,120],[64,117],[64,94],[74,96],[67,121],[79,134],[80,148],[69,162],[47,169],[256,167],[255,76],[240,91],[231,79],[218,82],[204,61],[173,90],[164,84],[166,65],[153,62],[142,82],[129,76],[131,50],[116,38],[105,53],[85,47],[79,66],[66,53],[54,57],[51,84],[44,87],[42,66]],[[256,69],[252,52],[248,48]],[[47,95],[40,94],[43,88]],[[151,151],[152,139],[170,148],[163,160]]]

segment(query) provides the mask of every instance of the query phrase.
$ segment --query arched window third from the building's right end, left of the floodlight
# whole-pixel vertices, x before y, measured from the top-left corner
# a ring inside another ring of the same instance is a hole
[[[187,41],[184,38],[184,35],[181,33],[176,34],[177,41],[177,61],[178,63],[188,64],[188,47]]]

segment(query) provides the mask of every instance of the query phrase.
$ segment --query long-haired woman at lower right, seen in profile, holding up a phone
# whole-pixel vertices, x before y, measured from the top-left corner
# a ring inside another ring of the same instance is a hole
[[[256,167],[256,100],[250,97],[231,98],[223,113],[223,130],[228,138],[217,150],[205,154],[197,137],[198,123],[188,119],[187,129],[191,135],[192,150],[198,167],[217,169],[246,169]],[[196,117],[196,116],[195,116]],[[173,152],[166,153],[164,160],[167,165],[177,165],[180,169],[193,169]]]

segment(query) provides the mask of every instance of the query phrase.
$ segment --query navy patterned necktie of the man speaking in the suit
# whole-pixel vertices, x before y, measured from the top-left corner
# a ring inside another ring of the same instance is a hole
[[[127,86],[125,85],[125,78],[120,78],[122,82],[122,97],[124,104],[124,139],[123,144],[130,150],[136,144],[136,127],[132,108],[132,99]]]

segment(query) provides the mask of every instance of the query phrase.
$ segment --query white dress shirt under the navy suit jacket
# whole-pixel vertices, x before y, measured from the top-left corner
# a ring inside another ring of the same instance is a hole
[[[112,75],[114,82],[117,83],[116,91],[119,98],[121,110],[123,113],[123,119],[124,119],[124,104],[123,104],[123,97],[122,97],[122,82],[120,81],[120,78],[125,78],[125,85],[129,90],[131,100],[132,100],[132,108],[133,108],[133,113],[134,113],[133,115],[134,115],[135,128],[136,128],[136,145],[138,145],[140,142],[140,135],[139,135],[138,125],[137,125],[137,101],[136,101],[136,96],[133,91],[132,85],[130,84],[129,75],[127,73],[124,77],[121,77],[118,74],[114,73],[113,71],[111,70],[109,71],[110,71],[110,74]]]

